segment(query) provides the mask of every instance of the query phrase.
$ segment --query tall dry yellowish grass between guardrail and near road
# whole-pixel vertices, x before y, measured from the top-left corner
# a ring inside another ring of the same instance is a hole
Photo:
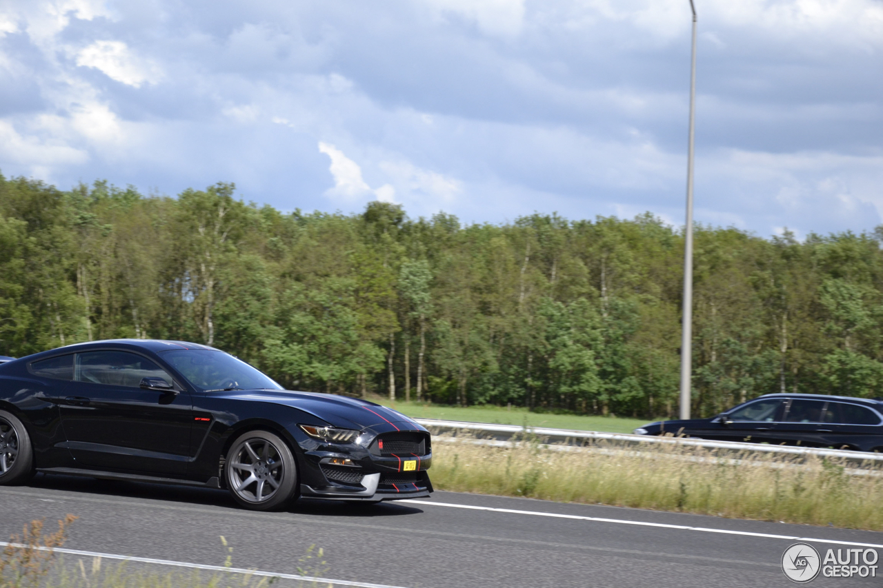
[[[532,496],[883,531],[883,470],[814,456],[718,455],[681,445],[636,451],[610,443],[556,451],[536,442],[495,448],[436,438],[440,490]],[[734,459],[734,457],[736,459]],[[857,475],[864,473],[864,475]]]

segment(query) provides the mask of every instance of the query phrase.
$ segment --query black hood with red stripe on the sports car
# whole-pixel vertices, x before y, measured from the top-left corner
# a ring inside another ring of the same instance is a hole
[[[230,390],[221,393],[231,400],[264,402],[291,406],[321,418],[328,425],[346,429],[380,428],[389,426],[402,430],[426,431],[411,418],[380,404],[333,394],[295,392],[291,390]],[[213,394],[213,396],[215,396]]]

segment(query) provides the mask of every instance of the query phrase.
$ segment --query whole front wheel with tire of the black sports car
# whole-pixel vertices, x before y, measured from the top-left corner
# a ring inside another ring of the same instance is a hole
[[[248,431],[230,446],[226,482],[246,509],[278,509],[294,494],[298,469],[288,445],[274,433]]]

